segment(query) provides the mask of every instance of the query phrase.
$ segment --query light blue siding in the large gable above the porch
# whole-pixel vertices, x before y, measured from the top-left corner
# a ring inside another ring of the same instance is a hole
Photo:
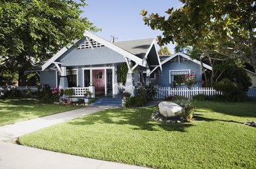
[[[89,66],[99,64],[113,64],[125,62],[124,57],[117,52],[99,47],[94,49],[72,50],[65,58],[60,60],[63,66]]]

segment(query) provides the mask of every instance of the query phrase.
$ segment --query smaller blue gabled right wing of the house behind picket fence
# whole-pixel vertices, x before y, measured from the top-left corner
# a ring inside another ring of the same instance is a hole
[[[190,56],[177,52],[169,57],[165,56],[162,60],[162,71],[157,71],[154,84],[163,87],[173,86],[173,83],[179,83],[184,76],[190,73],[197,75],[197,83],[194,87],[202,87],[202,69],[201,62],[190,58]],[[203,63],[205,69],[212,70],[208,64]],[[184,88],[184,83],[177,84],[177,87]]]

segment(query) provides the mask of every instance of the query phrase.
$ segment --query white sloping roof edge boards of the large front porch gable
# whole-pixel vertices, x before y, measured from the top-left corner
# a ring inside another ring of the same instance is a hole
[[[98,37],[97,35],[94,35],[94,33],[85,31],[85,33],[83,33],[83,35],[84,35],[84,37],[89,37],[90,39],[94,39],[95,41],[102,43],[107,48],[110,48],[111,50],[113,50],[119,54],[122,54],[124,57],[134,61],[136,64],[138,64],[142,67],[147,67],[147,62],[145,62],[145,60],[143,60],[137,56],[134,56],[130,52],[127,52],[126,50],[119,48],[117,45],[115,45],[109,41],[106,41],[105,39],[102,39],[101,37]],[[55,62],[62,54],[67,52],[74,45],[74,43],[76,43],[78,41],[79,41],[79,39],[76,39],[76,40],[72,41],[72,43],[68,44],[67,47],[64,47],[61,50],[59,50],[59,52],[57,52],[57,54],[55,54],[52,58],[50,58],[46,63],[44,63],[42,65],[42,71],[44,71],[47,67],[49,67],[51,64],[53,64],[53,62]]]

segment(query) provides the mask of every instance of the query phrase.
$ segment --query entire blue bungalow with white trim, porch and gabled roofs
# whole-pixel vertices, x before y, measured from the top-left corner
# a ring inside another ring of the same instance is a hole
[[[123,64],[128,67],[126,84],[120,83],[117,76]],[[211,70],[207,64],[203,67]],[[182,53],[161,62],[155,39],[111,43],[85,31],[82,39],[73,41],[44,62],[40,82],[51,88],[74,88],[75,96],[83,96],[87,90],[93,96],[113,96],[124,89],[133,94],[137,86],[149,83],[170,86],[188,73],[197,74],[200,87],[200,62]]]

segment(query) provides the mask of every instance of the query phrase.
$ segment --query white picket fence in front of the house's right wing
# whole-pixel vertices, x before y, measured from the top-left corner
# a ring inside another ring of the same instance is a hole
[[[171,88],[171,87],[156,87],[156,98],[163,99],[167,96],[184,96],[186,98],[192,98],[198,94],[205,96],[214,96],[221,94],[220,91],[214,90],[214,88]]]

